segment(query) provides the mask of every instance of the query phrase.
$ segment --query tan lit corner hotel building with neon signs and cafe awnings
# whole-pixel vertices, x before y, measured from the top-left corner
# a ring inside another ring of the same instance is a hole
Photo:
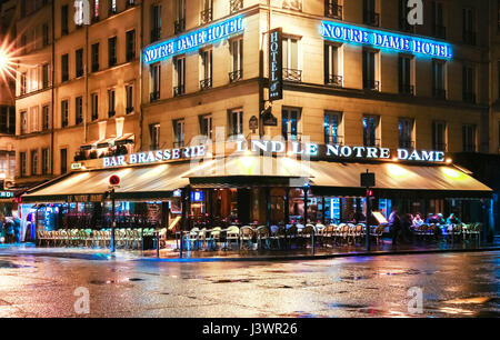
[[[408,11],[399,2],[271,0],[270,10],[259,0],[141,1],[151,34],[143,34],[134,139],[119,156],[96,150],[96,159],[76,160],[23,203],[102,214],[117,173],[121,209],[154,210],[162,226],[182,210],[182,197],[192,222],[286,223],[303,219],[306,206],[310,221],[341,222],[364,209],[359,177],[369,170],[373,207],[386,216],[398,207],[490,221],[490,189],[452,160],[490,151],[484,4],[474,3],[471,44],[451,27],[469,2],[424,1],[426,14],[446,16],[417,27],[401,21]],[[273,29],[279,51],[270,48]],[[251,140],[268,144],[253,150]]]

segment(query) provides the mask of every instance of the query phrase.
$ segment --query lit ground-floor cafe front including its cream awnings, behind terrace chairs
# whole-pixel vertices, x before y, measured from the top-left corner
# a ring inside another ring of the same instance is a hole
[[[118,174],[117,228],[168,228],[168,237],[174,238],[180,228],[193,227],[339,224],[351,222],[354,213],[366,217],[360,173],[367,170],[376,173],[371,206],[380,212],[370,226],[387,223],[392,208],[423,219],[454,212],[462,222],[487,224],[491,189],[451,163],[324,158],[304,163],[249,152],[194,164],[179,160],[77,170],[29,191],[21,206],[33,236],[40,230],[109,229],[111,201],[104,192],[110,176]],[[183,194],[188,219],[181,227]]]

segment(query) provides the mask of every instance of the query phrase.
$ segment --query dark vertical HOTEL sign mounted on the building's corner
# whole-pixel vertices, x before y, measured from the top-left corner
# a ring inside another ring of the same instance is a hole
[[[269,100],[283,99],[283,29],[269,32]]]

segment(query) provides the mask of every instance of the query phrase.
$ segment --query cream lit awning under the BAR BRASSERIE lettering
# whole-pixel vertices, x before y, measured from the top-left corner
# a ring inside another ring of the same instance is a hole
[[[84,202],[101,201],[109,190],[109,178],[118,174],[118,200],[148,200],[168,198],[176,189],[189,184],[184,177],[190,163],[163,163],[151,167],[130,167],[74,172],[47,186],[38,187],[22,197],[23,202]]]

